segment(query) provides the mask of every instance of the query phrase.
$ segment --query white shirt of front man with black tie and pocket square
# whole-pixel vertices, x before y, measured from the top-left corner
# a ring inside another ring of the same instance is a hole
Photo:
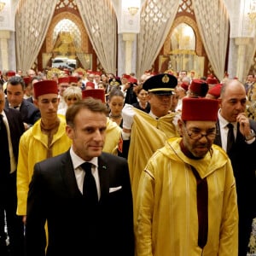
[[[78,183],[78,187],[80,192],[83,194],[83,184],[84,184],[84,176],[85,172],[82,169],[81,165],[84,164],[84,160],[79,157],[79,155],[75,154],[73,151],[73,148],[70,148],[70,156],[73,163],[73,170],[75,173],[75,177]],[[99,172],[98,172],[98,158],[94,157],[92,160],[89,161],[91,166],[91,173],[96,181],[96,189],[98,198],[101,198],[101,189],[100,189],[100,178],[99,178]]]

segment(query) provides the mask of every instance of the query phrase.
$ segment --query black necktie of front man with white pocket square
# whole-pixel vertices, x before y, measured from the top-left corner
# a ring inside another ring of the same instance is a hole
[[[90,206],[96,206],[98,202],[98,195],[96,189],[96,181],[91,173],[91,163],[85,162],[81,165],[84,169],[84,185],[83,185],[83,195],[86,203]]]

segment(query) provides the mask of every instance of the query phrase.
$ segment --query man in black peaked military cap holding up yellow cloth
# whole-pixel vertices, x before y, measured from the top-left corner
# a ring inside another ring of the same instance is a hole
[[[139,178],[149,157],[164,146],[166,139],[178,136],[174,125],[176,113],[171,113],[172,93],[176,77],[161,73],[143,83],[148,91],[151,109],[145,113],[129,104],[123,108],[123,131],[119,141],[119,155],[127,157],[133,199],[137,195]]]

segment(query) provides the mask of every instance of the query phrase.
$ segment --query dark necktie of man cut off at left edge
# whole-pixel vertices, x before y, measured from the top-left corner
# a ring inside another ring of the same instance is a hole
[[[1,169],[5,171],[5,174],[8,174],[10,172],[9,143],[7,129],[3,122],[3,114],[0,114],[0,145],[3,149],[0,154]]]

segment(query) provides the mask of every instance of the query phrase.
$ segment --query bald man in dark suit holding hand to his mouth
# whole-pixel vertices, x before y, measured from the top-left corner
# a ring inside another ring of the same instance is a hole
[[[218,113],[218,136],[215,143],[224,148],[230,157],[236,177],[236,192],[239,211],[239,256],[247,255],[247,246],[252,230],[253,218],[256,216],[256,123],[245,114],[246,91],[236,79],[223,85],[220,94]],[[228,138],[228,125],[235,142]]]

